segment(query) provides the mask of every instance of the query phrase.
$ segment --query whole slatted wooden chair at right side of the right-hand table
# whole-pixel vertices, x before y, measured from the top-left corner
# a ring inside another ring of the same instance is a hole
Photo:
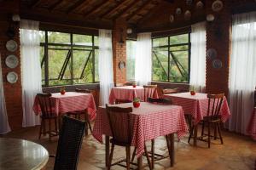
[[[217,137],[217,130],[219,139],[221,144],[223,144],[223,139],[220,130],[220,123],[221,123],[221,116],[220,116],[220,109],[223,104],[224,94],[207,94],[208,98],[208,109],[207,109],[207,116],[201,120],[202,129],[201,129],[201,137],[199,139],[208,142],[208,148],[211,146],[211,137],[214,139],[218,139]],[[205,125],[207,124],[208,133],[204,133]],[[211,125],[214,127],[214,136],[211,135]],[[195,125],[192,126],[192,129],[189,134],[189,141],[193,135]],[[203,137],[207,136],[207,140],[203,139]]]

